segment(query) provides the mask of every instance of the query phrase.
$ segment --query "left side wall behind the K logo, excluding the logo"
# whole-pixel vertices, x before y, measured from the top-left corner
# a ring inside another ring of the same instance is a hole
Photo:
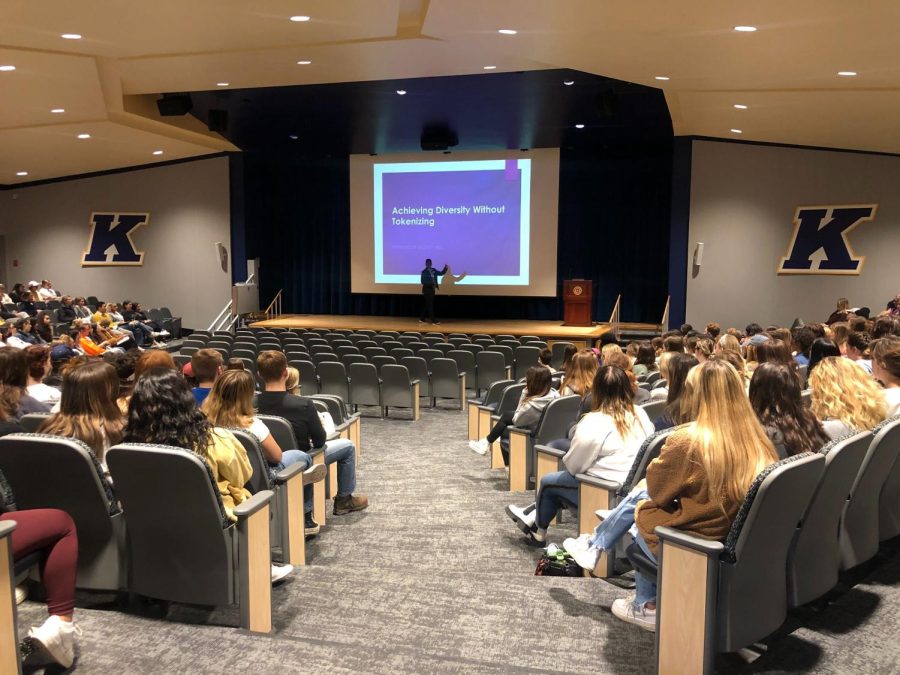
[[[133,235],[142,266],[81,266],[94,211],[150,213]],[[9,288],[49,278],[63,293],[166,306],[185,327],[206,328],[231,297],[214,250],[221,241],[231,251],[228,159],[2,191],[0,235]]]

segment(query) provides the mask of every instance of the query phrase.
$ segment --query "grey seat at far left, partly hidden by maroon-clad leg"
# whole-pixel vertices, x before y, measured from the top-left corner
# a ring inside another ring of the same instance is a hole
[[[125,588],[125,518],[87,445],[46,434],[10,434],[0,438],[0,471],[18,509],[61,509],[72,516],[79,588]]]

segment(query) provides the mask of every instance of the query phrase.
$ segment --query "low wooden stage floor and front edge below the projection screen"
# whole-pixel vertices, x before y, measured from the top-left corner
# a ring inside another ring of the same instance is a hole
[[[276,319],[257,321],[253,327],[267,328],[346,328],[351,330],[434,331],[439,333],[485,333],[487,335],[536,335],[547,340],[593,342],[610,330],[608,323],[594,326],[563,326],[561,321],[515,321],[443,319],[439,325],[419,323],[415,317],[358,316],[334,314],[284,314]],[[656,332],[658,326],[645,323],[620,323],[621,332]]]

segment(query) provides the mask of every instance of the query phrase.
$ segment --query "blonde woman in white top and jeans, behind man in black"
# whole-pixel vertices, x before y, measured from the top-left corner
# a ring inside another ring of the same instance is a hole
[[[312,466],[312,457],[302,450],[282,449],[265,422],[253,414],[255,389],[253,376],[246,370],[226,370],[216,378],[200,409],[206,413],[213,426],[226,429],[236,427],[253,434],[273,471],[281,471],[293,464],[302,464],[304,468]],[[324,477],[325,465],[320,464],[313,480]],[[311,485],[304,488],[304,496],[306,534],[312,536],[319,533],[319,524],[312,518]]]

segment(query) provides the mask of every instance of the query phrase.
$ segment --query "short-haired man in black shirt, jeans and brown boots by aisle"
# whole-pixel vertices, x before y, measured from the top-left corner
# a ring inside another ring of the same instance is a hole
[[[356,489],[356,447],[352,441],[336,438],[326,441],[325,430],[316,414],[313,402],[305,396],[288,394],[287,359],[283,352],[260,352],[256,360],[257,373],[266,383],[266,390],[256,397],[256,407],[263,415],[278,415],[287,419],[294,429],[298,450],[325,446],[325,464],[337,462],[338,490],[334,498],[334,515],[360,511],[369,506],[365,495],[354,495]],[[550,371],[542,368],[547,376]]]

